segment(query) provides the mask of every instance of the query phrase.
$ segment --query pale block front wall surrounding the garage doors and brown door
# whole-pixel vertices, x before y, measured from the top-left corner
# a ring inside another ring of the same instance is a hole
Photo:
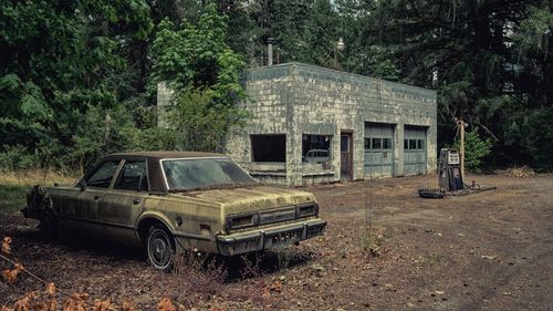
[[[290,179],[302,180],[301,134],[332,134],[333,180],[340,179],[340,134],[353,131],[353,179],[364,179],[365,122],[395,124],[394,176],[404,175],[404,125],[428,127],[428,172],[436,169],[436,92],[400,83],[345,73],[320,66],[291,63],[293,86],[289,94],[292,112],[294,164]],[[300,164],[300,165],[298,165]],[[305,179],[305,178],[304,178]],[[327,178],[326,178],[327,179]],[[325,182],[317,180],[314,182]]]

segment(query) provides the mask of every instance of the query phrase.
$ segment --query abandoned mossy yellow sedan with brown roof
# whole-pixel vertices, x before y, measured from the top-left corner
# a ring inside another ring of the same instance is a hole
[[[71,187],[35,187],[25,217],[145,247],[157,269],[176,251],[233,256],[322,235],[315,197],[258,184],[229,157],[192,152],[104,157]]]

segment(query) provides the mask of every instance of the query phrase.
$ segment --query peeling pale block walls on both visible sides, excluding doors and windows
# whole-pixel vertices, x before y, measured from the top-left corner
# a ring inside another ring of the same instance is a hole
[[[437,165],[436,92],[320,66],[285,63],[246,75],[253,118],[229,135],[227,153],[262,182],[306,185],[340,180],[340,134],[353,131],[353,179],[366,179],[365,123],[394,124],[394,176],[404,175],[404,126],[426,126],[427,169]],[[250,134],[286,134],[285,173],[262,173],[251,162]],[[313,172],[302,163],[302,134],[332,135],[331,166]]]

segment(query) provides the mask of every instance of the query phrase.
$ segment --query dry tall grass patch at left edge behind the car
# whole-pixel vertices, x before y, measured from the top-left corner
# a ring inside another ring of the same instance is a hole
[[[79,177],[46,170],[0,172],[0,214],[15,214],[27,205],[27,193],[34,185],[72,185]]]

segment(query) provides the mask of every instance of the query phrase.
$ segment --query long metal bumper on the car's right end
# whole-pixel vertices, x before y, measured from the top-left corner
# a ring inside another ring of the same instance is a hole
[[[324,232],[326,221],[311,219],[301,222],[248,230],[217,237],[217,249],[222,256],[278,249],[306,240]]]

